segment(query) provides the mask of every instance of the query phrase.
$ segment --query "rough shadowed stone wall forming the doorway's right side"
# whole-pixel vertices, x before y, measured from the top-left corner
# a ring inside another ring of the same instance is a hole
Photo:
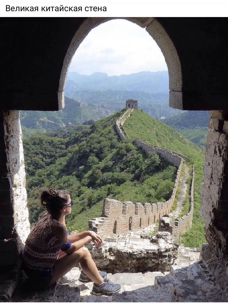
[[[228,111],[210,112],[201,215],[208,245],[202,257],[228,295]]]

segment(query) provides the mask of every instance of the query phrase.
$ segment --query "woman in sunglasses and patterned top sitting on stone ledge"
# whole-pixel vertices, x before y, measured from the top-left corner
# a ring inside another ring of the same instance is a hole
[[[120,284],[107,279],[99,272],[90,252],[84,245],[89,241],[102,245],[102,239],[93,231],[68,234],[65,215],[71,213],[73,201],[66,190],[45,190],[41,205],[47,213],[33,226],[25,242],[23,270],[33,288],[44,288],[55,283],[69,270],[80,265],[80,280],[94,282],[92,294],[110,295],[120,291]],[[61,250],[61,251],[60,251]]]

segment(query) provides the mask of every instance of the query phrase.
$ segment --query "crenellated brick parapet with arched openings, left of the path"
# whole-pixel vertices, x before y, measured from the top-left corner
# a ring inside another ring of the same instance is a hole
[[[124,203],[114,199],[104,199],[101,217],[89,220],[89,229],[101,237],[120,234],[154,224],[161,216],[169,214],[173,206],[179,183],[182,162],[178,168],[173,193],[168,201],[158,203]],[[151,201],[152,202],[152,201]]]

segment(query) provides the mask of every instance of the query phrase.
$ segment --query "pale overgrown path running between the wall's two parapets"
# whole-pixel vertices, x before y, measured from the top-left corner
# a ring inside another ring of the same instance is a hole
[[[172,219],[178,218],[179,214],[182,212],[183,206],[184,206],[184,200],[187,192],[187,179],[190,176],[190,168],[184,165],[184,175],[180,177],[179,187],[180,187],[180,193],[177,197],[177,207],[169,213],[169,216]]]

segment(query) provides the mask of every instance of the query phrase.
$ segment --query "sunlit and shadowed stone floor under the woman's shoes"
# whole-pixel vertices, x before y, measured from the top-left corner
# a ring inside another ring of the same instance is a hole
[[[202,261],[173,265],[170,272],[108,274],[121,291],[113,296],[91,294],[92,282],[79,281],[73,268],[44,292],[17,291],[11,302],[227,302]]]

